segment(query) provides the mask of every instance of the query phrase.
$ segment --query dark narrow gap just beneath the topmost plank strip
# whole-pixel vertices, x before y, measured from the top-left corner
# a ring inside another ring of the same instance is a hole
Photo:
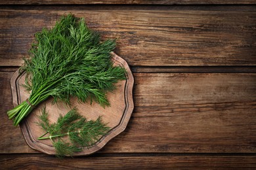
[[[207,10],[255,11],[255,5],[1,5],[6,10]]]

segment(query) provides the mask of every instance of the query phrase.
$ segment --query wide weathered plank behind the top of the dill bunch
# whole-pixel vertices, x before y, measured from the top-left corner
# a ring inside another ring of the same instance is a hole
[[[67,10],[0,10],[0,65],[22,65],[33,34]],[[85,17],[131,66],[255,65],[256,12],[69,10]],[[129,16],[127,16],[129,13]]]

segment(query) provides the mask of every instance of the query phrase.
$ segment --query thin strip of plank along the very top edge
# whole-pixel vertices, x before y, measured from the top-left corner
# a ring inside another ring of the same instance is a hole
[[[153,0],[153,1],[146,1],[146,0],[137,0],[137,1],[125,1],[125,0],[101,0],[101,1],[72,1],[72,0],[62,0],[62,1],[51,1],[51,0],[10,0],[4,1],[0,0],[0,5],[87,5],[87,4],[121,4],[121,5],[202,5],[202,4],[255,4],[255,0]]]

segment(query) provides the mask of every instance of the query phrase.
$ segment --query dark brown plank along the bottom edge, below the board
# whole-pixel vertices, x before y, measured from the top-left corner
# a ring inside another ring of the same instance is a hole
[[[58,159],[0,155],[1,169],[253,169],[256,156],[93,156]]]

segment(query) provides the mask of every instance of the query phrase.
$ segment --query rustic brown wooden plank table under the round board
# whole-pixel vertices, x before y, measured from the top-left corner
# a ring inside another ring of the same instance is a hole
[[[256,167],[256,1],[0,0],[0,169]],[[35,32],[84,17],[135,77],[127,129],[91,156],[30,148],[7,118]]]

